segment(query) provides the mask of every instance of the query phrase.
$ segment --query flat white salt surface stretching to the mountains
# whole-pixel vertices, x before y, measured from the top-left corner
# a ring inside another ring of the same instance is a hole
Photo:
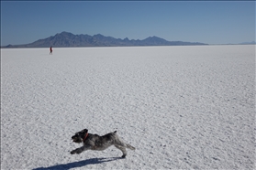
[[[1,49],[1,169],[253,169],[255,46]],[[74,133],[136,147],[70,154]]]

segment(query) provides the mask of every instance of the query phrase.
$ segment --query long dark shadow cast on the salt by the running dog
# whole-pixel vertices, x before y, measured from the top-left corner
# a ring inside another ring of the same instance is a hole
[[[68,170],[68,169],[72,169],[75,167],[82,167],[85,165],[96,165],[96,164],[111,162],[111,161],[115,161],[117,159],[123,159],[123,158],[121,158],[121,157],[92,158],[92,159],[87,159],[87,160],[63,164],[63,165],[52,165],[49,167],[39,167],[39,168],[35,168],[33,170],[46,170],[46,169],[48,169],[48,170],[58,170],[58,169],[59,170]]]

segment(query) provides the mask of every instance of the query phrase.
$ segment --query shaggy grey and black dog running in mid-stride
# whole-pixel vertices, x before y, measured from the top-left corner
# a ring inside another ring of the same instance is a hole
[[[72,150],[71,154],[81,154],[86,150],[103,151],[109,146],[114,145],[117,149],[122,151],[122,157],[125,158],[127,155],[126,148],[135,150],[135,147],[120,140],[117,136],[117,131],[99,136],[97,134],[88,133],[87,129],[83,129],[83,131],[75,133],[72,136],[72,141],[74,143],[83,143],[83,146]]]

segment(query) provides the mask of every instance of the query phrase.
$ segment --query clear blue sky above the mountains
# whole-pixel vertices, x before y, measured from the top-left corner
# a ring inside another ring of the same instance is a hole
[[[208,44],[255,40],[254,1],[1,1],[1,45],[62,31]]]

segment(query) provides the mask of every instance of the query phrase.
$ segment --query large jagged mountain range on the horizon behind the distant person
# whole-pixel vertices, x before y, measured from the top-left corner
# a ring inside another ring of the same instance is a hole
[[[115,37],[105,37],[97,34],[73,35],[68,32],[61,32],[55,36],[39,39],[30,44],[8,45],[1,48],[74,48],[74,47],[129,47],[129,46],[193,46],[207,45],[199,42],[167,41],[161,37],[147,37],[143,40],[129,40],[128,37],[121,39]]]

